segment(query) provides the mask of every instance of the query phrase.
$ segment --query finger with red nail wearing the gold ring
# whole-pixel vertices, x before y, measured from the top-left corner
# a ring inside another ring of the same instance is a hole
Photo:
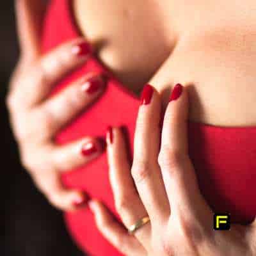
[[[109,127],[107,134],[109,180],[115,199],[115,206],[125,227],[129,228],[136,221],[147,216],[147,211],[140,200],[131,177],[122,131]],[[150,241],[150,223],[144,225],[134,234],[143,244]]]

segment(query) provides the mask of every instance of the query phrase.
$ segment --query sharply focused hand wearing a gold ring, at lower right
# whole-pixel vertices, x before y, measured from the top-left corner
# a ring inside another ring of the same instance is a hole
[[[162,135],[159,93],[147,85],[141,99],[131,168],[121,130],[107,134],[109,178],[125,227],[145,216],[150,222],[131,235],[99,200],[92,200],[100,232],[125,255],[256,255],[256,221],[213,230],[213,212],[200,194],[188,155],[186,88],[177,84],[173,89]]]

